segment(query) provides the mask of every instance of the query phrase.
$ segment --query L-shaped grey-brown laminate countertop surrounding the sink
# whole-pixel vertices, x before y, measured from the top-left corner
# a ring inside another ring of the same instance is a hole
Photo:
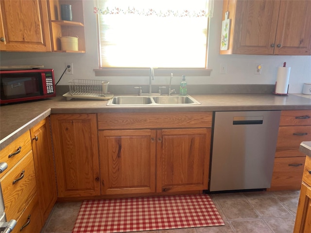
[[[190,111],[256,111],[256,110],[311,110],[311,98],[299,94],[203,94],[191,95],[200,105],[142,105],[107,106],[105,100],[66,100],[56,96],[0,106],[0,150],[13,142],[35,124],[57,113],[104,112],[190,112]]]

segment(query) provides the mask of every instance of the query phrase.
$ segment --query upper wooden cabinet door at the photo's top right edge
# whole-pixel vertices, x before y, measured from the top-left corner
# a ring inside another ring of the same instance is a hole
[[[275,51],[278,55],[311,54],[311,1],[281,0]]]

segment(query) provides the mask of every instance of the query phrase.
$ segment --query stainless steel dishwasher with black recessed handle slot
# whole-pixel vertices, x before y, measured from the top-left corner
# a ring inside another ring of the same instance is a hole
[[[270,187],[280,114],[215,113],[209,191]]]

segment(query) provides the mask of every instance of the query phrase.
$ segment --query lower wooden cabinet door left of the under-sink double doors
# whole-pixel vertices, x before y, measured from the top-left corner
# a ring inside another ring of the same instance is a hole
[[[51,115],[58,197],[100,195],[96,114]]]

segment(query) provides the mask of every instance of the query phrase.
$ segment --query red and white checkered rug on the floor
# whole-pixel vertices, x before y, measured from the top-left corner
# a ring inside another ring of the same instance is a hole
[[[72,233],[138,232],[225,225],[206,194],[86,200]]]

